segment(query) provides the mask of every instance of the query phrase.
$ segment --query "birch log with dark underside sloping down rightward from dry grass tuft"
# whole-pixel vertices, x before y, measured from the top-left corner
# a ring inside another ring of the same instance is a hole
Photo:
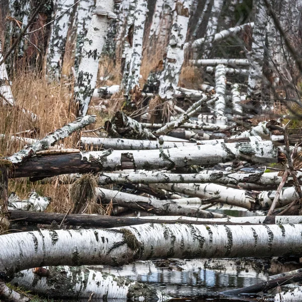
[[[203,210],[201,207],[202,201],[199,198],[199,206],[194,207],[190,205],[190,198],[159,200],[104,188],[97,188],[96,195],[102,203],[112,202],[121,207],[144,210],[156,215],[183,215],[201,218],[223,217],[222,214]]]

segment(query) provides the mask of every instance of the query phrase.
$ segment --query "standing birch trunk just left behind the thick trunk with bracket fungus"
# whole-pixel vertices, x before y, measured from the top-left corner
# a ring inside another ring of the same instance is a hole
[[[75,24],[77,24],[77,44],[75,46],[74,68],[76,71],[78,71],[80,61],[83,57],[82,48],[84,46],[94,7],[94,0],[81,0],[78,4],[77,15],[75,17]]]

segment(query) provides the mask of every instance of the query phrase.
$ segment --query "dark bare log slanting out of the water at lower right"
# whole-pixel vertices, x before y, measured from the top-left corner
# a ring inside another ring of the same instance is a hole
[[[242,294],[242,293],[256,293],[260,291],[267,292],[267,290],[270,288],[274,288],[279,285],[286,285],[294,282],[300,282],[300,281],[302,281],[302,273],[298,273],[294,276],[285,276],[285,277],[276,278],[273,280],[257,283],[251,286],[226,290],[221,293],[226,295],[233,295],[233,294]]]

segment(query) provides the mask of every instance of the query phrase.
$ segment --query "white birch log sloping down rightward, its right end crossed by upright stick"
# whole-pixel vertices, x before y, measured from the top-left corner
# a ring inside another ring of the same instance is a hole
[[[276,194],[276,191],[253,193],[217,184],[157,184],[156,188],[195,196],[201,199],[216,197],[215,201],[217,202],[236,205],[248,210],[268,210]],[[295,187],[283,188],[276,203],[276,208],[285,206],[298,198],[299,195]]]

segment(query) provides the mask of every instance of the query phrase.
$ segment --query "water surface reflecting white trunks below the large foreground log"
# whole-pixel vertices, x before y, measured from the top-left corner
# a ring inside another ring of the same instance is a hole
[[[275,274],[280,265],[282,271],[301,267],[293,261],[281,264],[277,261],[248,258],[137,261],[122,267],[92,266],[91,268],[147,282],[177,297],[177,301],[182,298],[181,301],[184,302],[231,302],[234,298],[219,296],[219,292],[268,280],[268,276]],[[80,301],[87,302],[87,299]],[[235,299],[235,301],[257,301],[257,299],[249,296]],[[125,301],[106,300],[104,302]]]

